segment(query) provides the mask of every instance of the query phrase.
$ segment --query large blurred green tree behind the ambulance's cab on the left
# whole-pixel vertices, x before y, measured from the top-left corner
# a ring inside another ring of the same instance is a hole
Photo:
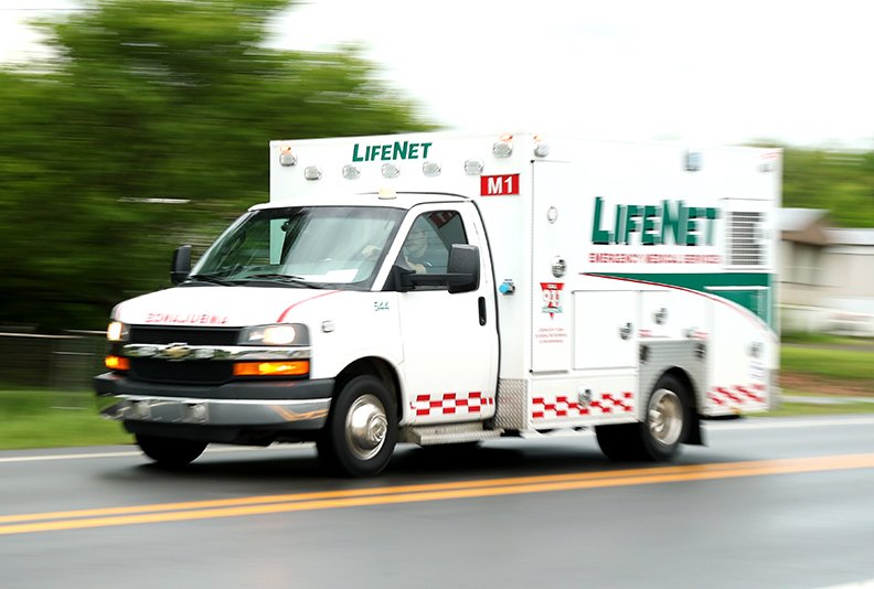
[[[354,49],[265,49],[289,3],[92,0],[40,23],[52,57],[0,71],[0,325],[102,329],[169,286],[178,244],[267,200],[270,139],[430,128]]]

